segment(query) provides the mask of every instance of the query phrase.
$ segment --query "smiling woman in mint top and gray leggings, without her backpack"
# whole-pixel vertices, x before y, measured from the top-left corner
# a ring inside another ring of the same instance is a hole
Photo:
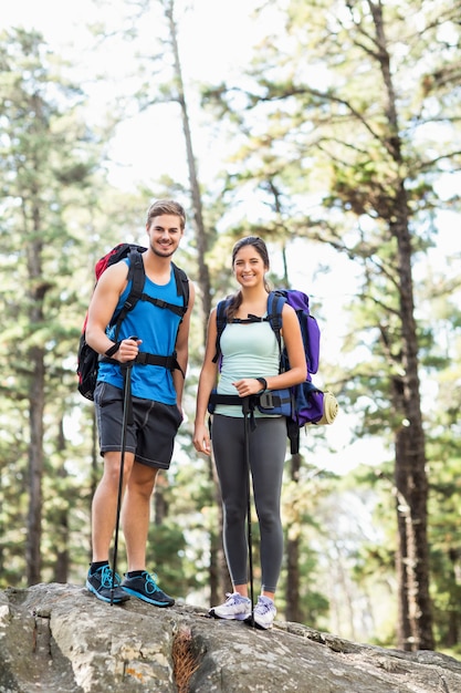
[[[262,394],[265,390],[289,387],[307,376],[303,341],[296,313],[283,306],[282,337],[291,369],[279,373],[280,351],[275,333],[264,320],[248,321],[249,316],[266,317],[269,286],[265,273],[269,256],[264,241],[255,236],[239,240],[232,251],[232,270],[240,289],[232,297],[227,325],[220,339],[222,355],[218,394]],[[245,321],[245,322],[241,322]],[[206,425],[207,406],[217,384],[218,365],[213,360],[217,340],[217,311],[211,311],[203,365],[197,395],[193,445],[210,454]],[[222,619],[247,620],[262,629],[272,627],[276,609],[274,597],[283,558],[283,530],[280,517],[283,466],[286,454],[286,422],[283,416],[254,412],[256,426],[250,432],[250,469],[261,536],[261,596],[251,613],[248,597],[248,468],[244,455],[244,425],[241,406],[218,404],[212,420],[212,446],[223,506],[223,541],[233,593],[224,603],[210,609]]]

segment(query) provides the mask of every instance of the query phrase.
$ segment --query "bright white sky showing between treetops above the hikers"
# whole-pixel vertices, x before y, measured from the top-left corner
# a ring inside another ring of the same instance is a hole
[[[180,30],[179,50],[186,85],[219,82],[224,74],[238,73],[239,66],[249,60],[253,38],[264,32],[263,27],[250,20],[255,0],[192,0],[187,3],[190,9],[186,12],[180,10],[184,4],[182,0],[177,0],[176,18]],[[129,3],[124,0],[17,0],[4,3],[0,27],[24,25],[40,30],[56,52],[72,61],[75,74],[82,75],[85,82],[90,75],[106,73],[108,81],[105,84],[85,84],[91,94],[91,113],[97,120],[106,112],[114,93],[123,95],[124,84],[127,86],[126,92],[129,90],[130,83],[126,75],[136,70],[134,53],[158,51],[158,39],[161,35],[156,33],[156,29],[164,30],[165,22],[161,15],[158,17],[160,10],[155,1],[150,2],[153,9],[146,19],[137,23],[140,33],[136,42],[106,41],[97,50],[94,49],[94,40],[87,30],[88,22],[104,22],[108,30],[126,29],[129,23],[123,17],[128,7]],[[201,177],[208,175],[212,180],[216,177],[213,164],[218,165],[217,143],[205,139],[206,133],[200,127],[200,110],[198,104],[193,104],[192,95],[192,90],[189,90],[189,115],[195,126],[193,146],[197,152],[206,153],[201,156]],[[187,183],[179,107],[176,104],[157,105],[140,115],[135,115],[135,111],[133,105],[132,120],[118,126],[112,146],[112,157],[119,164],[111,170],[113,183],[124,187],[135,186],[142,180],[146,183],[149,178],[158,177],[159,173]],[[155,170],[153,157],[146,154],[148,152],[156,153]]]

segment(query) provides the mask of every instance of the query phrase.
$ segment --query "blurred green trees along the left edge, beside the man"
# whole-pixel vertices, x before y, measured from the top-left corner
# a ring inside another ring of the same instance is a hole
[[[70,354],[80,331],[73,306],[82,288],[75,218],[94,204],[85,198],[94,145],[78,115],[81,90],[66,83],[39,34],[3,33],[0,61],[1,389],[4,449],[15,451],[14,459],[2,455],[0,466],[2,478],[13,475],[22,486],[21,503],[9,503],[11,492],[2,489],[2,525],[10,530],[2,532],[0,560],[8,566],[2,580],[23,586],[42,567],[50,578],[57,575],[56,556],[69,554],[71,516],[78,511],[65,437],[55,422],[70,414],[75,386]],[[21,530],[14,534],[14,527]],[[43,536],[42,546],[33,536]],[[33,560],[29,573],[24,550]]]

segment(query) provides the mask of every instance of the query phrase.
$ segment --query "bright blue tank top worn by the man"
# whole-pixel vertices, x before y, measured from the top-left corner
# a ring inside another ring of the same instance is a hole
[[[123,260],[129,265],[129,260]],[[116,311],[121,310],[128,297],[132,282],[129,281],[122,293]],[[170,280],[167,285],[156,285],[148,277],[144,285],[144,292],[157,299],[163,299],[175,306],[182,306],[182,297],[177,294],[175,273],[171,268]],[[118,339],[136,335],[143,340],[139,351],[168,356],[175,351],[176,338],[180,317],[167,308],[158,308],[149,301],[138,301],[122,323]],[[115,339],[115,327],[107,329],[107,337]],[[99,363],[98,381],[123,387],[123,375],[119,364]],[[160,365],[143,365],[135,363],[132,370],[132,393],[136,397],[155,400],[164,404],[176,404],[176,390],[171,372]]]

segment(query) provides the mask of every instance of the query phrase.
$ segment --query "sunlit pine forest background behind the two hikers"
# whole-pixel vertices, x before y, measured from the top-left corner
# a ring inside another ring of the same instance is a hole
[[[3,10],[0,587],[84,580],[101,461],[75,365],[93,267],[143,244],[149,203],[174,197],[198,300],[149,568],[195,604],[229,586],[191,426],[207,318],[234,289],[231,247],[259,234],[272,283],[311,296],[314,382],[340,404],[287,453],[280,617],[458,655],[461,3]]]

